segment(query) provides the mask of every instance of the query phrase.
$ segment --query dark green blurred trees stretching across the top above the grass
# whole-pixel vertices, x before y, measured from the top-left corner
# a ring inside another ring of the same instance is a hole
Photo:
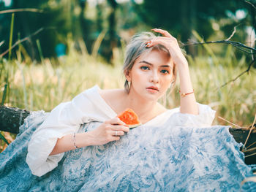
[[[95,39],[102,31],[107,31],[99,53],[107,61],[111,61],[113,48],[120,45],[118,34],[121,31],[130,31],[131,35],[145,28],[159,27],[170,31],[182,42],[187,42],[192,37],[192,30],[207,40],[212,34],[216,34],[217,30],[223,31],[224,37],[229,37],[234,26],[241,24],[233,40],[244,42],[246,27],[256,28],[255,8],[241,0],[145,0],[140,4],[136,2],[138,1],[97,0],[94,1],[94,7],[89,7],[86,0],[13,1],[12,7],[9,8],[44,10],[43,13],[15,13],[13,42],[18,39],[18,34],[20,38],[27,37],[38,28],[44,27],[48,29],[23,44],[31,58],[39,58],[35,39],[39,39],[43,55],[50,57],[56,55],[54,47],[57,44],[66,43],[68,33],[72,34],[75,41],[83,37],[91,53]],[[255,0],[250,2],[255,4]],[[3,5],[1,9],[2,7]],[[244,16],[238,17],[239,12],[244,13]],[[0,15],[0,41],[5,41],[0,47],[1,53],[8,47],[10,19],[10,14]]]

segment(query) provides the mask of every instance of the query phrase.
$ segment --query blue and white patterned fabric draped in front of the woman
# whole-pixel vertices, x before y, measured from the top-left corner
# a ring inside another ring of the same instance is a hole
[[[31,174],[26,153],[48,113],[34,112],[0,154],[0,191],[240,191],[252,168],[227,126],[133,128],[118,142],[66,152],[42,177]],[[99,122],[86,123],[80,132]],[[256,191],[245,183],[242,191]]]

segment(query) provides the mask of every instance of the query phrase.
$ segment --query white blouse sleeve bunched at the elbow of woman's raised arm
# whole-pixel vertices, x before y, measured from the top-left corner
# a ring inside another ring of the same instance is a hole
[[[173,114],[170,116],[168,122],[173,123],[173,126],[192,126],[198,128],[204,128],[211,126],[215,118],[216,111],[211,110],[211,107],[205,104],[199,104],[198,115],[192,115],[188,113],[181,113],[180,108],[173,109]]]

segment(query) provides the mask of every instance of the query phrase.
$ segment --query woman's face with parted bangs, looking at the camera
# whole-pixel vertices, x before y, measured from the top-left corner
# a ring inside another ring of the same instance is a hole
[[[173,61],[167,53],[151,50],[136,59],[126,77],[131,82],[129,94],[157,101],[173,80]]]

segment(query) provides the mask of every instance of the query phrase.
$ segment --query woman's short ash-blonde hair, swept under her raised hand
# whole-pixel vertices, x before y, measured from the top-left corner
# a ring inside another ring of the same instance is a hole
[[[140,57],[143,53],[150,52],[151,50],[157,49],[159,51],[165,52],[169,55],[169,51],[163,45],[154,45],[153,47],[146,47],[146,42],[151,41],[151,39],[156,38],[157,36],[151,32],[142,32],[140,34],[135,34],[132,36],[124,56],[124,66],[123,72],[127,74],[129,70],[132,69],[132,66],[135,64],[135,60]],[[174,85],[176,84],[177,70],[176,66],[173,65],[173,82],[171,91],[173,91]],[[129,93],[129,82],[125,80],[124,89]]]

